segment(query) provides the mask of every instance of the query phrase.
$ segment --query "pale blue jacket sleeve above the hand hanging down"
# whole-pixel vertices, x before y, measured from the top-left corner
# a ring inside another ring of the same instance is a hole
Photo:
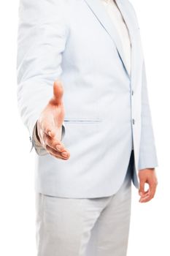
[[[158,157],[155,148],[155,138],[152,129],[152,116],[147,92],[147,78],[145,64],[143,62],[142,70],[142,129],[141,142],[139,149],[138,168],[144,169],[158,166]]]

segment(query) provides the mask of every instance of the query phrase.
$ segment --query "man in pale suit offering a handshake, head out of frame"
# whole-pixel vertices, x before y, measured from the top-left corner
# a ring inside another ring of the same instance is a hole
[[[140,202],[158,183],[129,1],[21,0],[18,107],[37,153],[38,255],[125,256],[131,178]]]

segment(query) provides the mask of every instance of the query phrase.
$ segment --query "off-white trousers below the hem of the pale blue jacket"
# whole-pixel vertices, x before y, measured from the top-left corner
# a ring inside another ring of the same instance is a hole
[[[132,164],[130,159],[123,184],[112,196],[66,198],[36,193],[37,256],[125,256]]]

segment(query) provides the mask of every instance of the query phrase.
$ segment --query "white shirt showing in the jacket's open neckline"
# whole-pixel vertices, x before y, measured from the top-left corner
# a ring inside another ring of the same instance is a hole
[[[117,7],[115,0],[100,0],[107,10],[109,17],[114,23],[115,28],[120,36],[122,42],[123,52],[125,54],[126,67],[128,73],[131,72],[131,40],[128,33],[128,27],[125,24],[125,20]]]

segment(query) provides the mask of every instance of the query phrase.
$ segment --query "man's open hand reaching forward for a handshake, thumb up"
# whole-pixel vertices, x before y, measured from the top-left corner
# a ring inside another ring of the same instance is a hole
[[[59,80],[53,84],[53,98],[50,99],[37,121],[37,133],[42,146],[59,159],[69,159],[69,151],[61,143],[64,118],[63,86]]]

